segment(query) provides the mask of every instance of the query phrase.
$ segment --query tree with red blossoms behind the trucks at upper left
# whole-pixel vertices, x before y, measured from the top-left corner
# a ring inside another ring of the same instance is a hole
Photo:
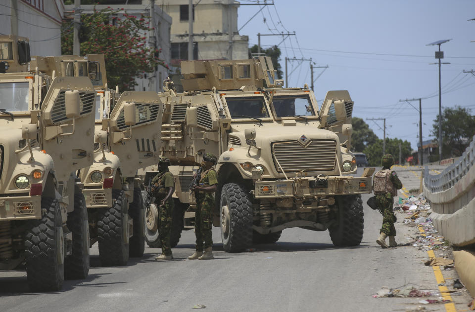
[[[120,15],[120,16],[119,16]],[[145,46],[149,17],[119,14],[110,7],[81,14],[80,53],[104,54],[108,85],[120,91],[133,90],[135,78],[142,78],[156,66],[168,66],[159,58],[161,49]],[[61,53],[73,52],[72,21],[65,20],[61,30]]]

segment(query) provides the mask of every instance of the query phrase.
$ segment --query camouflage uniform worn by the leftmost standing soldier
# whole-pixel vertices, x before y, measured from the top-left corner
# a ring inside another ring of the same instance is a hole
[[[160,172],[153,178],[152,185],[155,187],[155,203],[157,206],[159,206],[161,200],[167,196],[169,188],[175,187],[173,174],[168,171],[168,169],[165,172]],[[162,253],[165,256],[170,256],[172,254],[172,249],[170,246],[170,233],[172,227],[173,208],[174,202],[172,196],[168,197],[163,206],[158,207],[158,237],[162,245]]]

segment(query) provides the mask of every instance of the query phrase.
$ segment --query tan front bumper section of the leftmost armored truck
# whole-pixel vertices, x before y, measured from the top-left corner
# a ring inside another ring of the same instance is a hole
[[[0,221],[41,219],[41,195],[0,197]]]

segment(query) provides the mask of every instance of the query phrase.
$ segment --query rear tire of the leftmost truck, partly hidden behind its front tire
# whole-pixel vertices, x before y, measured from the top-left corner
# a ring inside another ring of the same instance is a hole
[[[64,262],[66,279],[83,279],[89,274],[89,221],[86,200],[81,190],[75,189],[74,210],[68,214],[66,225],[73,236],[71,254]]]

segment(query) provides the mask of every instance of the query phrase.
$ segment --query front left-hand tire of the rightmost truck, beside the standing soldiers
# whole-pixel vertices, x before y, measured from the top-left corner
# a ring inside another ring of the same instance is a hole
[[[224,250],[239,252],[252,244],[252,202],[244,187],[225,184],[221,191],[220,221]]]

